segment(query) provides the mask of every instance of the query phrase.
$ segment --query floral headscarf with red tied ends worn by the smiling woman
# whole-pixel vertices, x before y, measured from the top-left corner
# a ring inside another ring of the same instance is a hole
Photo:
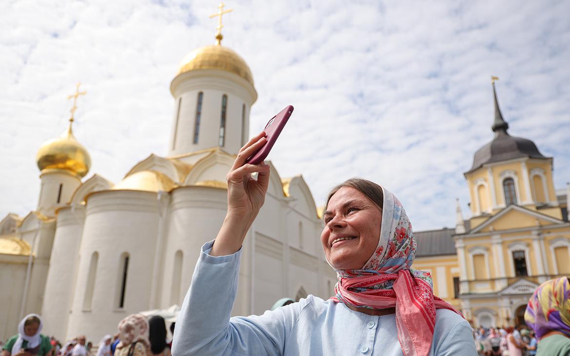
[[[396,308],[398,341],[404,356],[429,354],[435,326],[435,309],[450,304],[433,295],[429,272],[410,268],[416,256],[416,239],[402,204],[387,189],[378,247],[363,269],[337,270],[336,296],[331,299],[359,308]]]

